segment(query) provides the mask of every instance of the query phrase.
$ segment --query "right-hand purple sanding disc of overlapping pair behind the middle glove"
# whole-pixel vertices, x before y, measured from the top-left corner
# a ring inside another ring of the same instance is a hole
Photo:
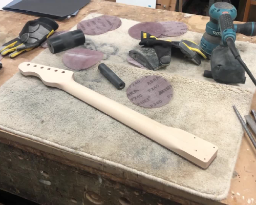
[[[187,25],[182,22],[159,22],[164,27],[164,36],[179,36],[187,32]]]

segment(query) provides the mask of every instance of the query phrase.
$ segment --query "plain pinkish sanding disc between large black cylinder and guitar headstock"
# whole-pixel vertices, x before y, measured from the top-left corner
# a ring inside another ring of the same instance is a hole
[[[103,57],[100,51],[84,48],[75,48],[67,51],[63,57],[63,63],[70,69],[83,70],[97,64]]]

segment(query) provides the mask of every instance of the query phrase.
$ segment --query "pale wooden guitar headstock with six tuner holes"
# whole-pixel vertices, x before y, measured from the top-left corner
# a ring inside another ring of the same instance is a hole
[[[61,83],[73,80],[74,74],[72,71],[29,62],[19,64],[18,68],[23,75],[37,76],[43,81],[45,85],[52,87],[58,87],[58,85]]]

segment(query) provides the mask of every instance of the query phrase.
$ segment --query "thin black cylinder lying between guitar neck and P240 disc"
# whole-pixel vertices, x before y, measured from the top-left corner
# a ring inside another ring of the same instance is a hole
[[[105,64],[99,65],[99,71],[111,81],[111,83],[118,89],[122,90],[125,87],[124,81],[122,81],[108,66]]]

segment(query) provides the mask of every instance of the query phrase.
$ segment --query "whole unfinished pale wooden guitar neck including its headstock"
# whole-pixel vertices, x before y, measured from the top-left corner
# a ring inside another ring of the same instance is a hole
[[[24,75],[39,77],[47,86],[70,93],[203,169],[206,169],[217,156],[216,145],[178,128],[164,126],[76,83],[72,71],[27,62],[20,64],[19,70]]]

